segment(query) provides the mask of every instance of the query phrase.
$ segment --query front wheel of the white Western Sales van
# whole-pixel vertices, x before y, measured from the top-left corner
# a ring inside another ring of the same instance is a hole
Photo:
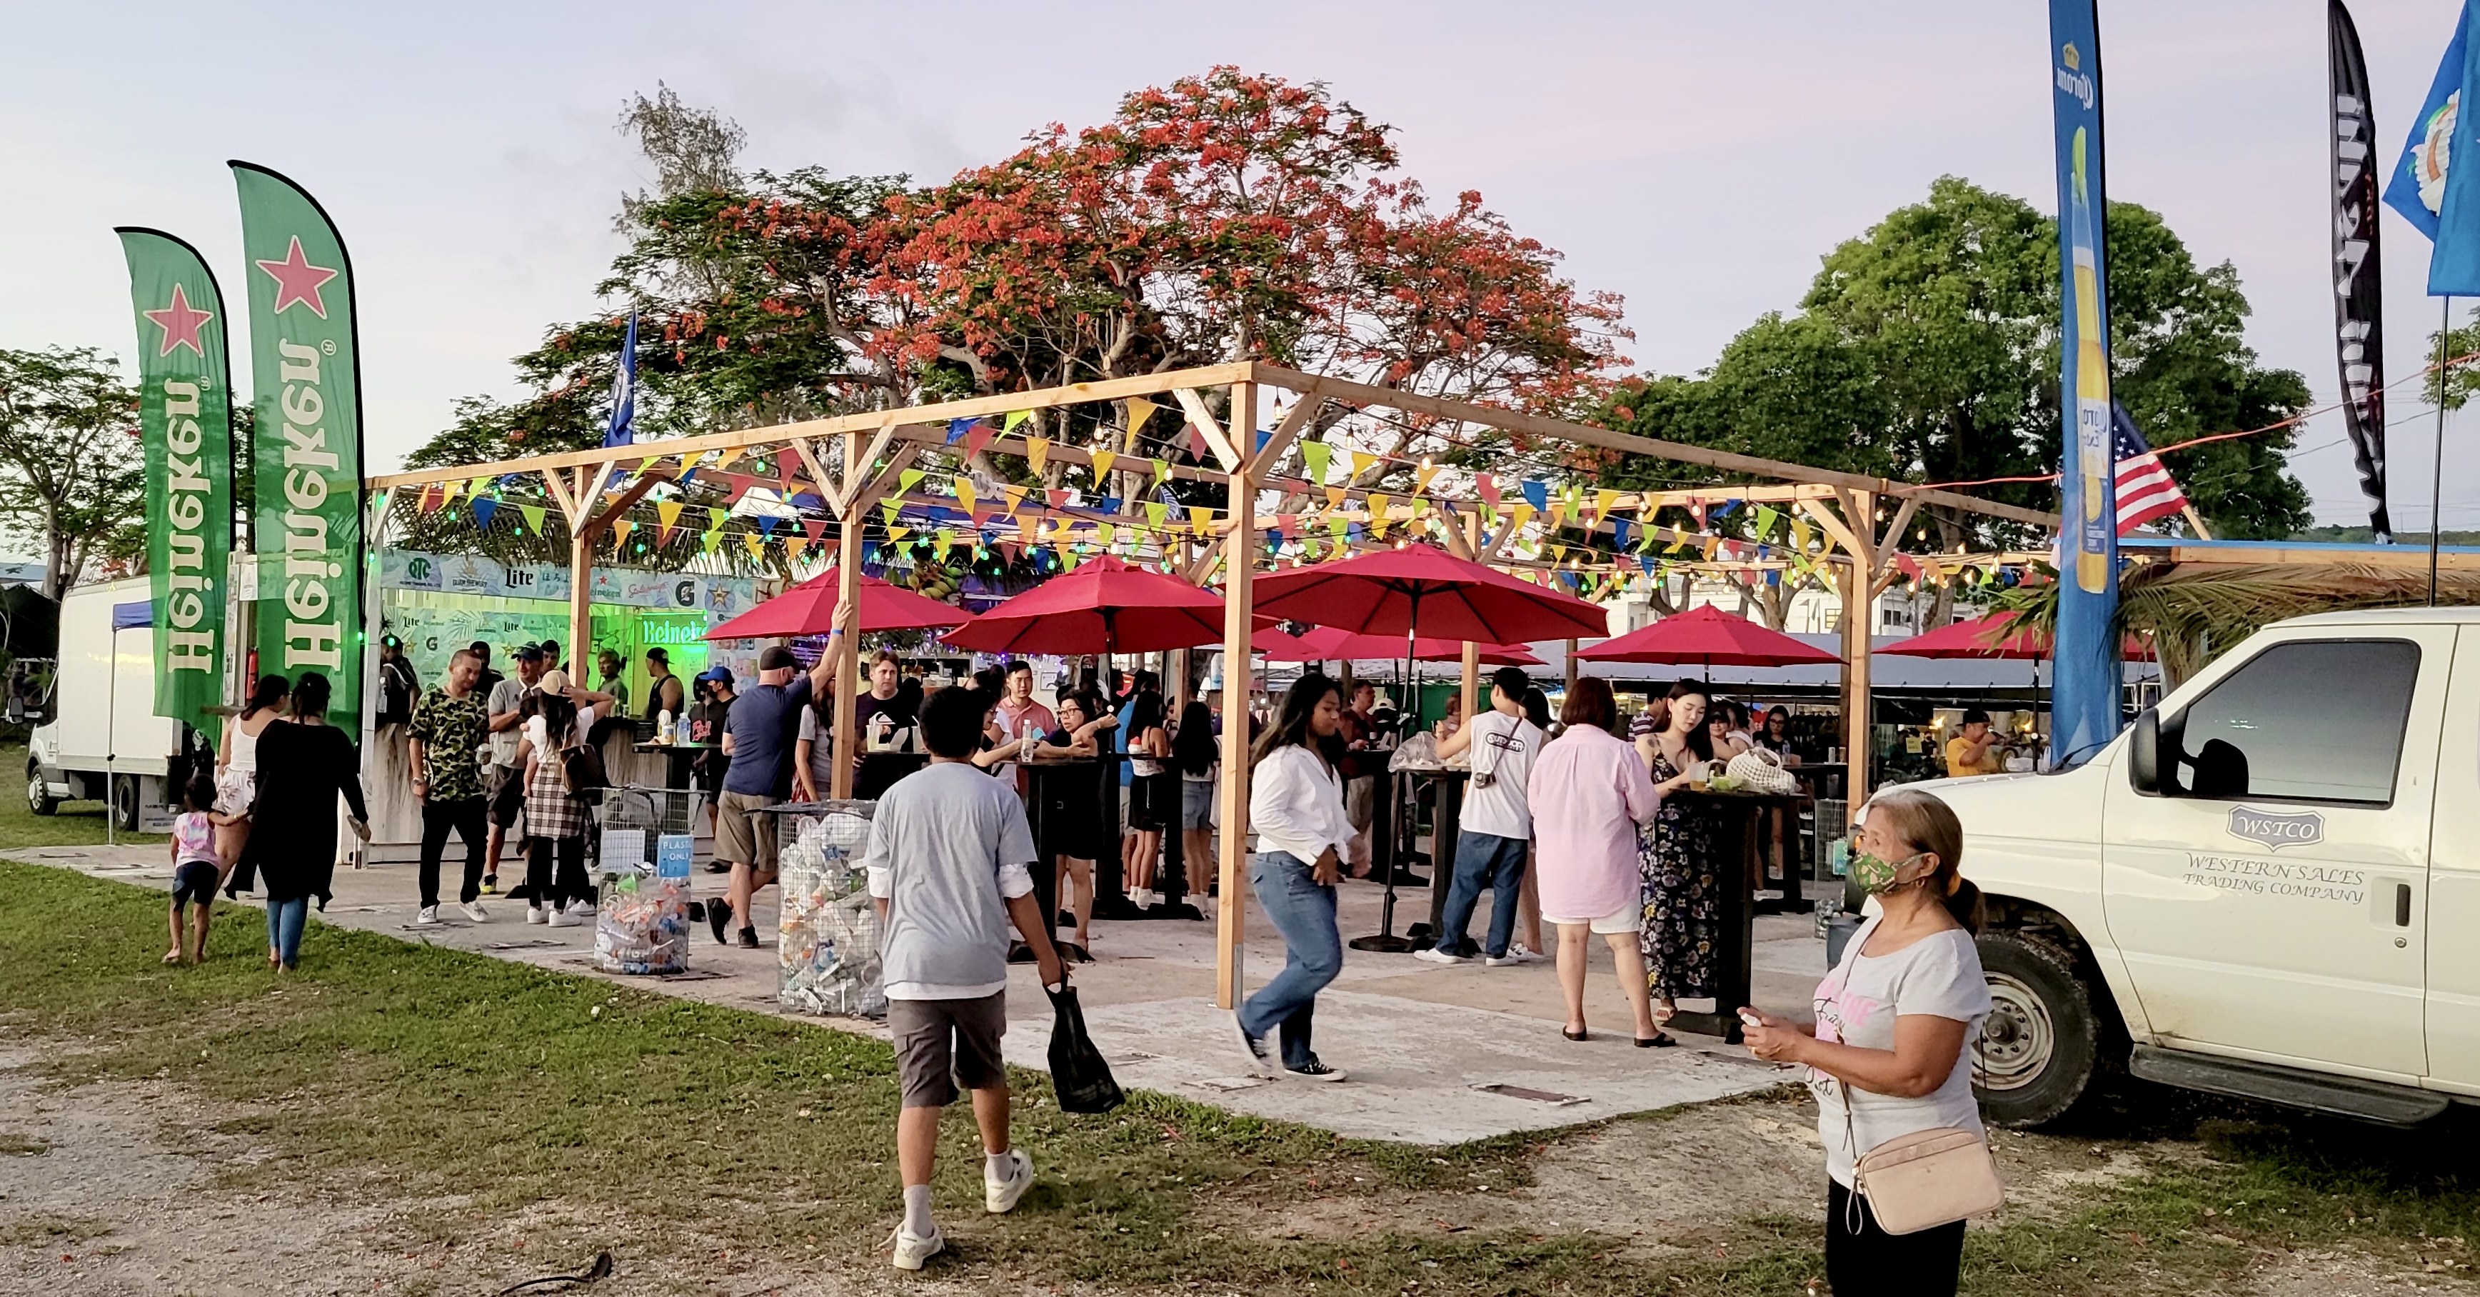
[[[1974,1059],[1982,1116],[2039,1126],[2083,1099],[2101,1061],[2101,1014],[2076,957],[2016,932],[1982,932],[1989,1022]]]

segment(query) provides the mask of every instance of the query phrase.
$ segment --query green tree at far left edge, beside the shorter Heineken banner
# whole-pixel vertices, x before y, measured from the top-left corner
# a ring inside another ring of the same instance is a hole
[[[0,350],[0,531],[42,546],[42,593],[144,563],[139,394],[94,347]]]

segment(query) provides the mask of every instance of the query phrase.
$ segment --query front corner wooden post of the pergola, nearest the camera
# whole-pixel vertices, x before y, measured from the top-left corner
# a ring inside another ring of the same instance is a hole
[[[1257,536],[1257,384],[1235,382],[1228,414],[1233,439],[1250,451],[1230,474],[1230,531],[1223,533],[1223,786],[1215,791],[1223,811],[1220,895],[1215,913],[1215,1004],[1240,1007],[1240,920],[1247,915],[1247,640],[1250,575],[1257,560],[1250,538]]]

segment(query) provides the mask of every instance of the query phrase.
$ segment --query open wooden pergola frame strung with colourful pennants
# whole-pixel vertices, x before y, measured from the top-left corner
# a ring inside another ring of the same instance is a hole
[[[1220,389],[1225,394],[1223,414],[1208,402],[1208,394]],[[1290,409],[1272,429],[1260,429],[1260,417],[1267,409],[1270,392],[1292,394]],[[1101,379],[1079,382],[1069,387],[1047,387],[1037,392],[1007,392],[997,397],[972,397],[960,402],[937,402],[905,409],[866,412],[866,414],[838,414],[828,419],[808,419],[796,424],[751,427],[734,432],[714,432],[702,436],[677,436],[665,441],[635,441],[627,446],[603,446],[585,451],[560,451],[526,459],[506,459],[491,464],[464,464],[449,469],[419,469],[407,474],[384,474],[370,479],[372,491],[407,489],[407,486],[434,486],[466,479],[503,479],[503,476],[538,476],[543,491],[560,508],[560,518],[568,528],[570,546],[570,645],[578,655],[585,655],[593,642],[590,603],[593,603],[593,565],[595,543],[610,531],[620,516],[645,498],[657,484],[680,476],[680,466],[665,466],[662,459],[677,459],[680,464],[694,464],[709,451],[791,451],[799,456],[801,466],[808,469],[818,486],[823,508],[828,518],[841,528],[841,598],[846,608],[858,605],[861,585],[861,553],[866,513],[875,503],[900,496],[903,474],[928,451],[942,451],[950,444],[950,424],[957,419],[987,419],[1009,417],[1024,412],[1049,412],[1096,402],[1128,402],[1148,397],[1171,397],[1185,414],[1188,427],[1193,427],[1210,449],[1210,466],[1171,466],[1171,476],[1218,484],[1225,491],[1223,518],[1215,521],[1213,546],[1188,563],[1188,578],[1205,583],[1220,568],[1223,593],[1225,593],[1225,625],[1223,625],[1223,714],[1245,717],[1250,707],[1250,672],[1245,662],[1250,660],[1250,578],[1257,568],[1257,498],[1262,491],[1277,486],[1282,479],[1277,469],[1287,461],[1295,441],[1322,427],[1319,417],[1329,407],[1344,407],[1347,412],[1394,412],[1421,424],[1461,424],[1478,429],[1495,429],[1510,436],[1523,436],[1533,441],[1590,446],[1597,451],[1622,451],[1654,459],[1669,459],[1679,464],[1696,464],[1721,474],[1758,479],[1751,486],[1704,486],[1684,491],[1652,491],[1652,494],[1624,494],[1607,506],[1595,508],[1595,518],[1567,521],[1565,526],[1577,526],[1587,536],[1600,531],[1614,531],[1612,508],[1637,508],[1649,523],[1652,508],[1667,503],[1694,503],[1704,498],[1736,498],[1736,501],[1763,501],[1781,503],[1786,511],[1796,511],[1800,518],[1815,523],[1815,528],[1828,541],[1828,551],[1818,556],[1820,563],[1835,565],[1838,590],[1843,595],[1843,657],[1845,657],[1845,746],[1850,751],[1850,791],[1853,799],[1862,799],[1867,791],[1867,717],[1870,717],[1870,608],[1875,598],[1892,585],[1897,578],[1895,543],[1910,526],[1912,516],[1922,506],[1947,506],[1967,513],[1982,513],[1989,518],[2026,523],[2034,528],[2056,531],[2058,516],[2036,508],[2019,508],[2006,503],[1984,501],[1977,496],[1964,496],[1957,491],[1907,486],[1900,481],[1875,479],[1865,474],[1843,474],[1833,469],[1810,469],[1800,464],[1783,464],[1776,459],[1758,459],[1746,454],[1719,451],[1711,446],[1689,446],[1681,441],[1659,441],[1649,436],[1632,436],[1622,432],[1600,429],[1592,424],[1572,424],[1562,419],[1548,419],[1540,414],[1523,414],[1510,409],[1481,407],[1471,402],[1451,402],[1438,397],[1424,397],[1414,392],[1399,392],[1391,387],[1374,387],[1364,382],[1347,382],[1334,377],[1302,374],[1297,370],[1285,370],[1265,362],[1235,362],[1235,365],[1210,365],[1195,370],[1171,370],[1161,374],[1141,374],[1126,379]],[[1255,432],[1255,436],[1252,436]],[[1014,454],[1032,456],[1034,446],[1024,436],[997,434],[980,441],[985,454]],[[1094,456],[1111,454],[1109,449],[1074,446],[1074,444],[1044,444],[1042,454],[1049,461],[1066,464],[1094,464]],[[632,481],[618,491],[605,491],[615,474],[625,464],[637,461]],[[836,464],[836,471],[828,471]],[[1109,464],[1109,461],[1106,461]],[[1136,464],[1131,464],[1133,469]],[[1297,484],[1297,481],[1295,481]],[[1324,489],[1329,501],[1352,498],[1359,506],[1359,516],[1369,518],[1371,503],[1376,503],[1386,516],[1391,516],[1391,503],[1406,498],[1404,491],[1374,489],[1369,484],[1354,484],[1339,489]],[[1376,496],[1376,501],[1371,501]],[[1424,498],[1438,498],[1433,491],[1421,491]],[[1448,501],[1468,506],[1458,526],[1438,528],[1448,551],[1505,563],[1503,551],[1513,541],[1515,526],[1505,526],[1498,538],[1483,546],[1481,513],[1483,501]],[[1644,526],[1644,523],[1634,523]],[[1664,538],[1706,538],[1699,533],[1681,533],[1679,528],[1649,528]],[[1203,541],[1203,538],[1200,538]],[[1513,563],[1510,563],[1513,565]],[[856,627],[843,625],[846,642],[853,642]],[[583,657],[580,657],[583,660]],[[1471,714],[1476,704],[1478,660],[1476,645],[1463,650],[1463,707]],[[846,679],[836,689],[836,732],[853,734],[858,707],[858,682]],[[836,789],[833,796],[851,796],[853,771],[851,764],[836,764]],[[1220,821],[1225,826],[1220,841],[1220,885],[1225,898],[1245,895],[1245,841],[1247,841],[1247,727],[1225,724],[1223,727],[1223,786],[1220,786]],[[1218,927],[1218,1002],[1233,1007],[1240,999],[1240,915],[1242,905],[1220,908]]]

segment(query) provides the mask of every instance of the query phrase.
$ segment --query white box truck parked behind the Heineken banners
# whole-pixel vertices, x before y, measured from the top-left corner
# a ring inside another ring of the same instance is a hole
[[[171,831],[166,776],[184,759],[184,727],[154,714],[146,578],[77,585],[60,600],[60,667],[45,712],[25,751],[37,816],[62,801],[109,799],[119,828]]]

